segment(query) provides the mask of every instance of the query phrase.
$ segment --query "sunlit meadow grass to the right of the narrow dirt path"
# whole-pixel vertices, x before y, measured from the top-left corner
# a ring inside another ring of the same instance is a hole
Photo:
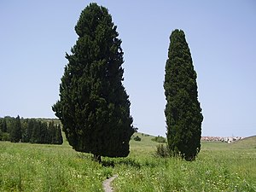
[[[201,143],[197,160],[160,159],[148,155],[148,144],[131,143],[134,166],[115,167],[116,191],[256,191],[256,138],[241,143]],[[142,140],[143,141],[143,140]],[[143,152],[144,151],[144,152]],[[152,152],[152,151],[151,151]],[[136,155],[134,155],[136,154]]]

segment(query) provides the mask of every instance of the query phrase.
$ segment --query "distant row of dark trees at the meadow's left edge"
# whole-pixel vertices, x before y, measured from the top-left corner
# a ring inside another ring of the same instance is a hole
[[[62,144],[61,125],[54,121],[5,117],[0,119],[0,141]]]

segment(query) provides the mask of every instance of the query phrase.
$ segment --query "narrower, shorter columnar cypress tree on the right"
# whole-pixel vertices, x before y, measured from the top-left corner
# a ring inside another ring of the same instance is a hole
[[[165,94],[167,142],[172,154],[195,160],[201,149],[201,114],[196,73],[183,31],[170,37],[166,61]]]

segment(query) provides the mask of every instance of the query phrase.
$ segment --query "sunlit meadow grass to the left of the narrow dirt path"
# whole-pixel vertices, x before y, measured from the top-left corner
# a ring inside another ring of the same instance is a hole
[[[105,167],[70,147],[0,143],[0,191],[102,191]]]

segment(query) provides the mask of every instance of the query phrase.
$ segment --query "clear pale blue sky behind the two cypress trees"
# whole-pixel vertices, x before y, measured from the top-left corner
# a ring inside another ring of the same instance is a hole
[[[0,2],[0,117],[55,118],[65,52],[89,1]],[[198,75],[203,136],[256,135],[256,2],[96,1],[118,26],[125,88],[139,131],[166,134],[163,82],[174,29],[183,29]]]

